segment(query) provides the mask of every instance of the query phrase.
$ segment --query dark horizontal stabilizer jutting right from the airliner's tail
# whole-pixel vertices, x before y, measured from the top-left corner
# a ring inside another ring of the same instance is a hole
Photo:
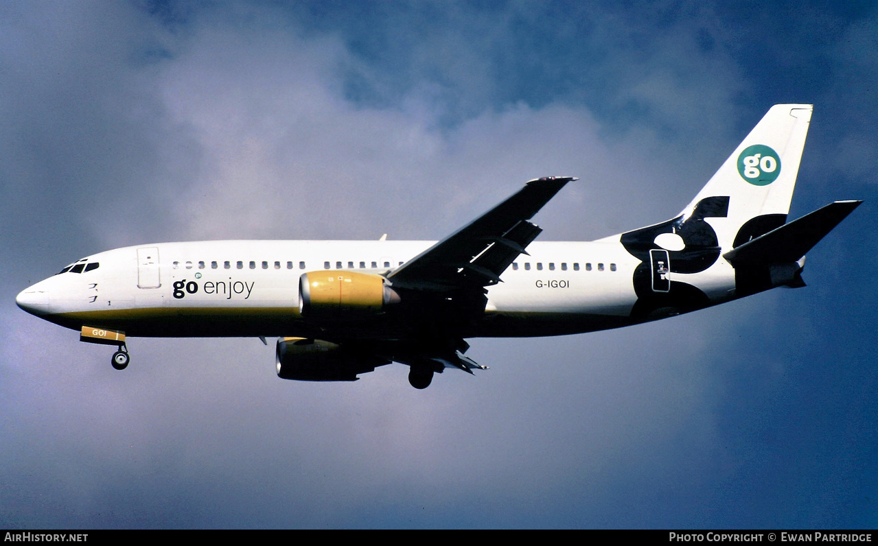
[[[732,248],[723,257],[736,268],[796,262],[860,203],[836,201]]]

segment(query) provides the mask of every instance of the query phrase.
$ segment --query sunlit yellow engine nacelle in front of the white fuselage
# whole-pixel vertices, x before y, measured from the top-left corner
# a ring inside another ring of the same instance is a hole
[[[306,319],[363,319],[396,303],[399,294],[380,275],[336,269],[299,278],[299,313]]]

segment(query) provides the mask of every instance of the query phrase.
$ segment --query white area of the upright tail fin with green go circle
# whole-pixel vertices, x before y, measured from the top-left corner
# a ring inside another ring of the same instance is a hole
[[[705,205],[727,210],[711,214],[719,246],[730,249],[782,226],[793,198],[795,178],[811,119],[811,104],[775,104],[723,162],[692,203],[684,221]]]

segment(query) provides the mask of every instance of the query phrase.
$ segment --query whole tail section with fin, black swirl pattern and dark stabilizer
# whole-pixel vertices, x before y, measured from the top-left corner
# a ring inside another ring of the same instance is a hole
[[[787,224],[811,111],[810,104],[775,104],[680,215],[620,235],[642,262],[631,316],[652,320],[804,286],[805,253],[860,205],[837,201]]]

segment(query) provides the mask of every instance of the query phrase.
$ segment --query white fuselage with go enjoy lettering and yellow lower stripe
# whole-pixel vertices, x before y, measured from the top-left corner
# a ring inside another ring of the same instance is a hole
[[[19,305],[62,326],[105,327],[129,336],[310,335],[299,313],[299,277],[324,269],[385,274],[433,241],[198,241],[118,248],[80,262],[90,270],[49,277]],[[641,261],[618,236],[534,242],[487,289],[483,324],[471,336],[573,334],[659,319],[632,317],[632,276]],[[711,304],[734,297],[734,273],[718,260],[695,274]],[[367,337],[392,337],[387,327]],[[363,329],[358,327],[358,329]]]

